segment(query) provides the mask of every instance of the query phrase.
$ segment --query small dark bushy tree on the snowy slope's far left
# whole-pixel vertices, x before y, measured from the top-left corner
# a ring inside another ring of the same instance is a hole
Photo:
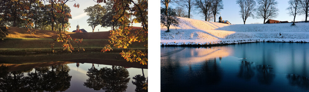
[[[173,9],[168,8],[167,15],[165,14],[165,8],[161,8],[161,24],[167,27],[165,32],[170,32],[171,25],[178,25],[179,18],[176,17],[176,12]]]

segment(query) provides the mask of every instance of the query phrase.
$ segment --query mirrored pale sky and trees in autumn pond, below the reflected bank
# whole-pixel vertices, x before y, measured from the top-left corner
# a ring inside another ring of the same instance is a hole
[[[137,85],[143,85],[143,80],[146,81],[148,77],[148,69],[143,69],[146,77],[144,79],[140,68],[63,61],[56,63],[31,69],[19,68],[17,71],[15,68],[20,64],[4,64],[6,66],[0,67],[0,90],[132,92],[136,90]],[[37,66],[40,65],[44,65],[44,63],[37,64]],[[14,67],[14,69],[10,69],[10,67]],[[138,83],[133,84],[132,81]],[[141,88],[139,87],[137,90]]]

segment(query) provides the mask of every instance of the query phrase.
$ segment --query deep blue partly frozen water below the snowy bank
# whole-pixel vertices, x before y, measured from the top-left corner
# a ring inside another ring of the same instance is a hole
[[[162,47],[161,55],[184,47]],[[308,43],[185,48],[161,57],[161,91],[309,90]]]

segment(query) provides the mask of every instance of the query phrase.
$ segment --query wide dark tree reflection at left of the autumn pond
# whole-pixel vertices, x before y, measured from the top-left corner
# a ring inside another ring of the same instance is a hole
[[[8,72],[8,67],[0,66],[0,89],[4,92],[16,91],[65,91],[70,87],[72,76],[68,74],[69,67],[56,65],[34,68],[23,71]],[[54,71],[55,68],[55,71]],[[28,72],[28,76],[23,73]]]

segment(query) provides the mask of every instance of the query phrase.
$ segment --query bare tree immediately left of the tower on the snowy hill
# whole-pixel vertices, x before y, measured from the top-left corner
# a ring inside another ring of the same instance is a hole
[[[211,11],[214,15],[214,22],[216,22],[216,15],[219,14],[219,11],[223,9],[222,0],[212,0],[211,2]]]

